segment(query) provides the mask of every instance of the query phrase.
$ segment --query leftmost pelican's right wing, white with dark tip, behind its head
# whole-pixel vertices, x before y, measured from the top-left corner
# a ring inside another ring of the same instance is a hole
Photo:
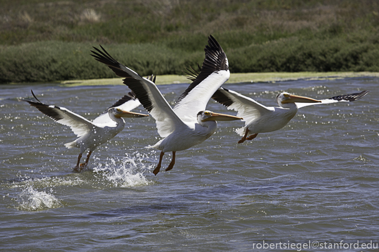
[[[113,121],[108,114],[108,109],[119,108],[124,111],[131,111],[141,105],[141,102],[135,97],[135,94],[129,92],[127,95],[119,99],[115,104],[107,108],[100,116],[96,117],[93,124],[106,124],[108,127],[116,127],[117,123]]]

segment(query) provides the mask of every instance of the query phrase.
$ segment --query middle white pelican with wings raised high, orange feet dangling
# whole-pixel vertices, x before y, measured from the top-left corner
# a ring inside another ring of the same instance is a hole
[[[164,137],[153,146],[161,151],[159,162],[153,173],[156,175],[161,168],[162,158],[166,152],[172,152],[172,160],[166,171],[175,164],[175,153],[202,143],[217,128],[216,120],[240,120],[242,118],[206,111],[206,105],[213,93],[229,79],[228,59],[219,43],[210,36],[209,46],[205,50],[205,59],[201,73],[176,101],[174,108],[168,104],[157,86],[147,78],[117,62],[102,47],[103,51],[92,55],[106,64],[136,94],[145,109],[156,120],[157,130]],[[130,79],[133,79],[131,81]]]

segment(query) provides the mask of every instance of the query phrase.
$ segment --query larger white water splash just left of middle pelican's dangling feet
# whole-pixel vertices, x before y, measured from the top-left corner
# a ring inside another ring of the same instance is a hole
[[[107,158],[104,167],[99,164],[93,172],[102,175],[115,187],[146,186],[151,181],[145,177],[144,172],[152,168],[143,162],[147,158],[146,154],[138,152],[131,155],[126,153],[122,159]]]

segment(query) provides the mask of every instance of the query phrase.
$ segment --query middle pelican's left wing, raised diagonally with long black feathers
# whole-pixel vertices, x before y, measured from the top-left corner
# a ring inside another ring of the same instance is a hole
[[[143,78],[133,70],[122,65],[112,58],[102,46],[100,47],[104,52],[94,47],[97,52],[91,51],[94,54],[91,56],[107,65],[117,76],[125,78],[124,84],[134,92],[144,108],[156,120],[160,136],[166,137],[177,127],[186,126],[174,113],[153,81]],[[155,78],[153,80],[155,81]]]

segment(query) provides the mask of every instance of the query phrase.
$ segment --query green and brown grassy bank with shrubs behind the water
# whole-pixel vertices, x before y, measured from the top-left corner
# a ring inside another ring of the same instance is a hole
[[[201,63],[212,34],[232,73],[379,71],[372,0],[0,0],[0,82],[113,78],[102,44],[141,75]]]

